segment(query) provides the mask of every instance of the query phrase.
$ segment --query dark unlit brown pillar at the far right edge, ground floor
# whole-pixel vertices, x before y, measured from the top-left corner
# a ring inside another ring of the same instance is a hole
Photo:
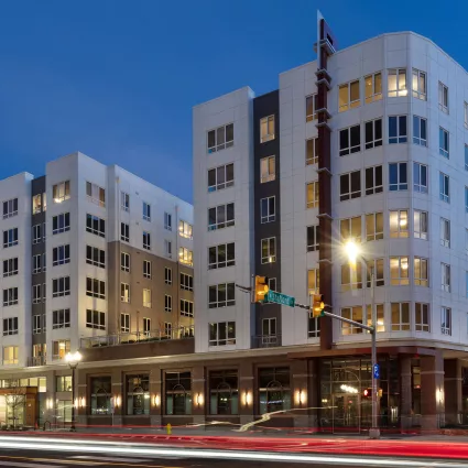
[[[460,424],[458,415],[462,411],[461,361],[458,359],[445,359],[444,372],[445,423]]]

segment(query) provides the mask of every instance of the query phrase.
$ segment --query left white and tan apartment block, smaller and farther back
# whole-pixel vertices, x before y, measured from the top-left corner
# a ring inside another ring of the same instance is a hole
[[[47,163],[44,176],[1,181],[0,194],[1,421],[12,387],[35,402],[20,423],[47,410],[69,421],[69,351],[102,347],[124,362],[123,344],[151,356],[154,342],[193,342],[189,204],[81,153]]]

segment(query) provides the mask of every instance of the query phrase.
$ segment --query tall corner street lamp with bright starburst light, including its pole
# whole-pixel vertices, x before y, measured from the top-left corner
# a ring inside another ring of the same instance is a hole
[[[370,438],[380,438],[380,428],[379,428],[379,421],[377,415],[377,379],[376,379],[376,364],[377,364],[377,308],[374,304],[374,287],[376,287],[376,281],[374,281],[374,269],[373,265],[369,266],[366,259],[362,257],[359,246],[353,242],[349,241],[345,244],[345,251],[348,255],[350,263],[356,263],[357,258],[360,257],[362,259],[362,262],[366,265],[366,273],[370,273],[370,296],[371,296],[371,339],[372,339],[372,346],[371,346],[371,361],[372,361],[372,425],[369,429],[369,437]],[[366,305],[366,304],[364,304]]]

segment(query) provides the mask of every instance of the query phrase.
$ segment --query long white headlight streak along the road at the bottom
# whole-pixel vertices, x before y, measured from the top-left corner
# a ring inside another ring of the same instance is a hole
[[[239,450],[209,450],[209,449],[181,449],[181,448],[153,448],[137,444],[118,444],[118,443],[92,443],[88,440],[74,440],[74,444],[63,443],[59,439],[47,439],[47,442],[36,442],[34,439],[25,439],[25,437],[15,437],[13,440],[4,440],[8,437],[1,437],[0,448],[22,448],[32,450],[51,450],[51,451],[83,451],[89,454],[108,454],[109,449],[112,454],[132,455],[132,456],[150,456],[157,458],[167,456],[178,456],[184,458],[198,458],[198,459],[225,459],[229,457],[236,460],[254,460],[254,461],[290,461],[290,462],[322,462],[322,464],[341,464],[348,466],[381,466],[381,467],[406,467],[406,468],[423,468],[431,466],[432,468],[466,468],[467,464],[445,462],[434,460],[410,460],[410,459],[387,459],[387,458],[371,458],[371,457],[342,457],[342,456],[319,456],[319,455],[294,455],[281,453],[254,453],[254,451],[239,451]],[[55,444],[62,442],[62,444]]]

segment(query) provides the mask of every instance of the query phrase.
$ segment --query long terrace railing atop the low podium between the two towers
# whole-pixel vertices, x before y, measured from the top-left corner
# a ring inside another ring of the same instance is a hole
[[[133,345],[138,342],[167,341],[174,339],[193,339],[194,327],[181,327],[172,330],[128,331],[115,335],[81,338],[81,348],[100,348],[107,346]]]

